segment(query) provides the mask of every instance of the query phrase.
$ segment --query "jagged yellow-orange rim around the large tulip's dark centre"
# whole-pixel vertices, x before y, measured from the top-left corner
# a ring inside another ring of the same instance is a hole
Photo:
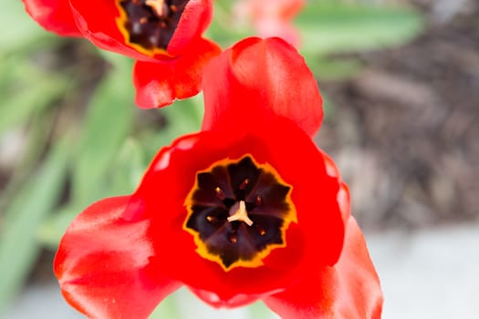
[[[230,164],[238,163],[240,160],[243,160],[246,157],[250,157],[251,160],[253,160],[253,163],[255,164],[256,168],[265,170],[266,172],[269,172],[269,173],[273,174],[276,181],[279,184],[284,185],[284,186],[288,186],[290,188],[290,190],[288,191],[288,193],[286,195],[286,199],[285,199],[286,203],[289,205],[289,211],[287,211],[286,215],[283,216],[283,225],[280,228],[281,237],[283,239],[282,243],[270,243],[262,251],[256,252],[253,259],[251,259],[251,260],[239,259],[239,260],[231,263],[228,267],[226,267],[219,255],[213,254],[212,252],[208,251],[208,248],[206,247],[206,244],[200,238],[200,232],[194,231],[194,230],[192,230],[192,229],[190,229],[186,226],[188,220],[190,219],[191,215],[193,214],[193,209],[192,209],[193,204],[194,204],[193,194],[196,190],[199,190],[198,179],[195,179],[193,188],[192,188],[192,190],[190,190],[190,192],[186,196],[186,200],[184,201],[184,206],[186,207],[187,214],[186,214],[185,220],[184,220],[183,225],[182,225],[183,231],[189,232],[190,234],[193,235],[193,241],[194,241],[194,243],[196,244],[196,247],[197,247],[196,252],[200,256],[202,256],[204,259],[206,259],[208,261],[218,263],[223,268],[224,272],[226,272],[226,273],[231,271],[232,269],[234,269],[236,267],[257,268],[257,267],[263,266],[265,264],[263,262],[263,259],[265,259],[271,252],[273,252],[277,248],[286,247],[286,244],[287,244],[287,242],[286,242],[286,230],[289,227],[289,224],[291,222],[297,223],[297,211],[296,211],[296,207],[295,207],[295,205],[294,205],[294,203],[291,199],[291,193],[293,191],[293,186],[286,183],[286,181],[281,178],[281,176],[278,174],[278,172],[271,165],[269,165],[269,163],[266,162],[265,164],[259,164],[258,162],[256,162],[255,158],[249,153],[246,153],[243,157],[241,157],[239,159],[235,159],[235,160],[232,160],[230,158],[227,158],[227,159],[224,159],[224,160],[218,160],[218,161],[214,162],[212,165],[210,165],[206,170],[198,171],[196,173],[196,176],[200,173],[203,173],[203,172],[211,172],[213,170],[213,168],[218,167],[218,166],[226,167]],[[219,187],[215,188],[216,193],[218,193],[219,190],[221,190],[221,188],[219,188]],[[256,200],[256,202],[259,201],[260,203],[263,201],[261,196],[256,197],[255,200]],[[241,211],[241,207],[238,209],[238,211]],[[207,217],[207,219],[208,219],[208,217]],[[248,220],[249,220],[249,218],[248,218]],[[263,227],[261,227],[259,225],[255,225],[255,226],[256,226],[256,231],[259,232],[259,234],[261,236],[266,235],[266,231]],[[249,226],[241,225],[240,227],[249,227]],[[230,241],[231,241],[231,238],[230,238]]]

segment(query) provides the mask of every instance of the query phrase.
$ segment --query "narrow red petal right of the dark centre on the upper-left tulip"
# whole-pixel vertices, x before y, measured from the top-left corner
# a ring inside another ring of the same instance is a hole
[[[196,52],[192,43],[202,37],[212,18],[213,0],[190,0],[168,45],[168,53],[176,57],[185,54],[185,49]]]

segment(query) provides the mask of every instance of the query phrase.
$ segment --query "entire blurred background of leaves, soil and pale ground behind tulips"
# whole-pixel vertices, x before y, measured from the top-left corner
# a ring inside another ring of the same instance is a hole
[[[215,2],[207,36],[223,47],[255,35],[237,2]],[[51,271],[59,238],[199,129],[203,98],[140,111],[130,59],[47,33],[19,0],[0,8],[0,318],[81,318]],[[383,318],[479,317],[479,3],[310,0],[294,26],[325,98],[318,145],[349,183]],[[226,316],[275,317],[181,290],[151,318]]]

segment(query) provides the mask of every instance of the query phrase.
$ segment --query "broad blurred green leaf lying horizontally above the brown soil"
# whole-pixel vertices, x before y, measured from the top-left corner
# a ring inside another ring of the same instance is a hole
[[[423,28],[422,15],[406,7],[310,1],[298,15],[302,51],[343,53],[401,45]]]

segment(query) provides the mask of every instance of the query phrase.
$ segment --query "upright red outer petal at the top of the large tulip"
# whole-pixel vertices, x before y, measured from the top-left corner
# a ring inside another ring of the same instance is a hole
[[[297,50],[279,38],[247,38],[205,68],[203,129],[257,130],[290,118],[314,135],[323,117],[318,86]]]

